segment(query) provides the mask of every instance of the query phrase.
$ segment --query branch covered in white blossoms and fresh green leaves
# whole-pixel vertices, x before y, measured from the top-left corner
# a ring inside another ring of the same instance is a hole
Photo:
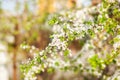
[[[51,42],[39,51],[34,46],[21,45],[36,53],[21,65],[25,80],[36,80],[38,73],[56,70],[91,74],[92,80],[113,80],[119,75],[120,2],[103,0],[101,4],[81,10],[61,11],[49,20],[53,26]],[[82,48],[73,55],[69,45],[82,41]],[[110,70],[110,66],[114,69]],[[86,73],[87,72],[87,73]],[[90,79],[89,79],[90,80]]]

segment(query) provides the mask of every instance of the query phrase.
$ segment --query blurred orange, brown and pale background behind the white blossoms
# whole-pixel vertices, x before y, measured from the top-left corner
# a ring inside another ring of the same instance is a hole
[[[39,50],[47,46],[52,33],[51,26],[47,23],[49,15],[61,10],[91,7],[100,2],[101,0],[0,0],[0,80],[23,80],[20,64],[23,60],[32,58],[34,53],[21,49],[20,45],[27,43]],[[71,44],[73,52],[79,50],[76,44],[76,41]]]

